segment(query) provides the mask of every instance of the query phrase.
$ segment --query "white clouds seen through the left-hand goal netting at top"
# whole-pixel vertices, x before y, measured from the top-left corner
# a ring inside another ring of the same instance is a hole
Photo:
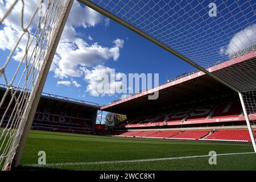
[[[48,1],[46,1],[48,3]],[[6,0],[0,2],[0,17],[2,17],[9,7],[13,4],[13,1]],[[24,14],[23,14],[23,27],[26,28],[28,22],[30,22],[30,18],[35,12],[36,7],[38,6],[38,1],[24,1]],[[16,6],[14,6],[11,13],[7,16],[7,18],[3,21],[3,28],[0,30],[0,49],[2,50],[13,50],[18,43],[19,38],[23,34],[23,30],[21,27],[20,19],[22,13],[22,2],[18,1]],[[39,16],[36,14],[34,20],[32,20],[30,27],[28,30],[31,32],[32,29],[35,29],[38,24]],[[25,54],[25,48],[27,46],[28,34],[24,34],[22,39],[20,39],[17,48],[15,49],[13,58],[17,61],[21,61]],[[30,36],[30,42],[32,40],[32,36]],[[28,48],[28,55],[32,54],[32,49],[35,47],[35,40],[31,43],[31,46]]]

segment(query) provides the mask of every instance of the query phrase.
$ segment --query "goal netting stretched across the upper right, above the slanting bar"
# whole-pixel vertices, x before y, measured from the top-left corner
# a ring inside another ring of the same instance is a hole
[[[256,114],[254,1],[79,1],[236,91],[255,141],[251,130]],[[255,142],[253,146],[256,152]]]

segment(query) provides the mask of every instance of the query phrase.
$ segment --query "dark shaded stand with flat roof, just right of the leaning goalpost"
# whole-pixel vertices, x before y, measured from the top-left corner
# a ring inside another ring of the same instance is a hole
[[[5,86],[0,85],[0,97],[3,96],[5,90]],[[0,117],[2,118],[5,115],[3,127],[6,126],[15,107],[11,105],[10,109],[5,113],[10,98],[10,94],[8,94],[6,102],[0,108]],[[92,102],[43,93],[31,129],[62,133],[92,134],[99,108],[100,106],[98,104]]]

